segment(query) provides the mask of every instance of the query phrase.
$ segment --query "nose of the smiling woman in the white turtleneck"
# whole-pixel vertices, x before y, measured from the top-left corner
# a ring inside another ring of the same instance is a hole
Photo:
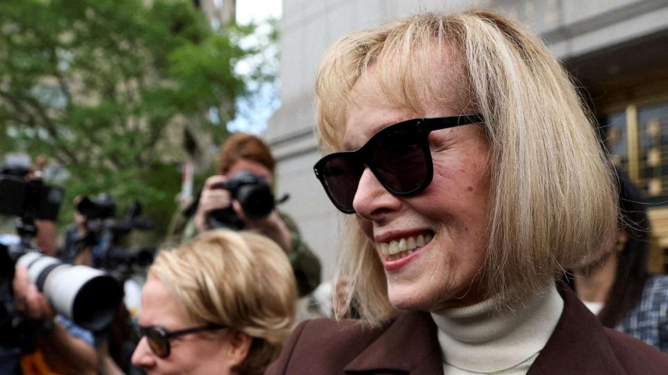
[[[376,221],[383,215],[398,210],[399,206],[401,206],[401,201],[385,190],[371,169],[367,167],[360,177],[360,183],[353,199],[355,212],[365,219]]]

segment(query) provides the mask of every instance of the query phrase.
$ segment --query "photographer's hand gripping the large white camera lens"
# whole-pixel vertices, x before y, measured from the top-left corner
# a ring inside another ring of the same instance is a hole
[[[54,319],[56,311],[37,287],[30,283],[28,270],[25,267],[16,267],[12,286],[16,309],[26,319],[36,322],[48,322]]]

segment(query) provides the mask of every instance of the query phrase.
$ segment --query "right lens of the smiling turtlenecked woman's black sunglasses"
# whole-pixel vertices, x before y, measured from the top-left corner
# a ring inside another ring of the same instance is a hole
[[[419,188],[429,174],[420,135],[410,128],[388,131],[371,150],[372,164],[387,188],[411,192]]]

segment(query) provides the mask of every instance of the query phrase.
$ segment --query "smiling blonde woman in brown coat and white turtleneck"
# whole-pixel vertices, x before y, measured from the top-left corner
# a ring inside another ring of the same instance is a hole
[[[617,192],[564,68],[487,10],[344,35],[316,83],[316,177],[351,215],[358,320],[297,326],[267,374],[665,374],[562,270],[617,227]]]

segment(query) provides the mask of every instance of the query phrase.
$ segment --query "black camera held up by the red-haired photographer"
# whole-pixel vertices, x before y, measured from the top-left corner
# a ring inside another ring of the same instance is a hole
[[[276,207],[269,183],[246,169],[228,181],[212,186],[212,189],[228,190],[232,199],[239,202],[250,220],[264,219]],[[225,226],[242,229],[244,226],[231,207],[212,211],[210,219],[210,224],[214,228]]]

